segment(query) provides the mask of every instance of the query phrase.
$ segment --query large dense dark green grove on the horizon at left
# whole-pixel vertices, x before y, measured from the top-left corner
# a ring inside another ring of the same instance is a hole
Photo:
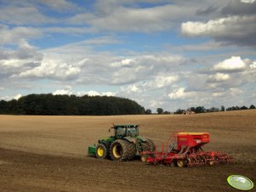
[[[109,96],[29,94],[0,101],[0,114],[43,116],[114,116],[145,114],[134,100]]]

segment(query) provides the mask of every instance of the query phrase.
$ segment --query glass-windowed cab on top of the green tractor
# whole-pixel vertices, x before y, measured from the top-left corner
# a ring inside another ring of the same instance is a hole
[[[114,125],[115,138],[136,138],[139,136],[139,125]]]

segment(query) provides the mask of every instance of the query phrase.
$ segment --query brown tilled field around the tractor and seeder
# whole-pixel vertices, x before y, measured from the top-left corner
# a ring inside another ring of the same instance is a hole
[[[0,116],[0,191],[237,191],[231,174],[256,182],[256,110],[191,116]],[[157,146],[174,130],[210,133],[204,150],[234,162],[214,167],[148,166],[100,161],[89,144],[111,124],[139,124]],[[255,189],[255,188],[254,188]]]

